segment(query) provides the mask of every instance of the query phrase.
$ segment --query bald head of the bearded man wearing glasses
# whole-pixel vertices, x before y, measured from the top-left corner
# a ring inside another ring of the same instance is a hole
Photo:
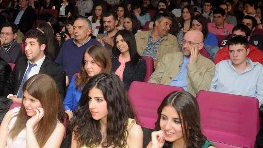
[[[199,30],[189,30],[184,35],[182,51],[185,56],[190,56],[191,49],[198,49],[198,52],[204,47],[204,35]]]

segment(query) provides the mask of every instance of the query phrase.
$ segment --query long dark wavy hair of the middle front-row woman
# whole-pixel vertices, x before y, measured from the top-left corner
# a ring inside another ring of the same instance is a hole
[[[88,94],[92,88],[100,89],[107,102],[107,128],[105,141],[102,141],[100,120],[94,120],[88,107]],[[74,128],[78,146],[94,147],[101,144],[105,147],[126,147],[126,129],[129,118],[135,118],[125,87],[115,74],[102,73],[92,77],[82,90],[82,96],[70,121],[69,127]]]

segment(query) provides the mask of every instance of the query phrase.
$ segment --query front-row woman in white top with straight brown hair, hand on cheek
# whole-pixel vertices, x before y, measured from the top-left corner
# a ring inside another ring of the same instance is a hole
[[[8,111],[0,126],[0,148],[59,148],[65,128],[62,99],[47,74],[30,77],[22,106]]]

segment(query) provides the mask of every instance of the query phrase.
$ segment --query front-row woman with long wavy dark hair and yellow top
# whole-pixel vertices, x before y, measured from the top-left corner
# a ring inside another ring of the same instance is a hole
[[[70,122],[71,148],[142,148],[143,131],[134,118],[119,77],[98,74],[83,88]]]

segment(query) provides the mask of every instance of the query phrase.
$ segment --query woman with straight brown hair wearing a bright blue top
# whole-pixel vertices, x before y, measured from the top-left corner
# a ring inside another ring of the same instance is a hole
[[[108,51],[102,45],[92,45],[84,52],[81,71],[77,76],[72,77],[63,102],[69,119],[73,117],[83,87],[91,77],[104,72],[111,72],[111,59]]]

